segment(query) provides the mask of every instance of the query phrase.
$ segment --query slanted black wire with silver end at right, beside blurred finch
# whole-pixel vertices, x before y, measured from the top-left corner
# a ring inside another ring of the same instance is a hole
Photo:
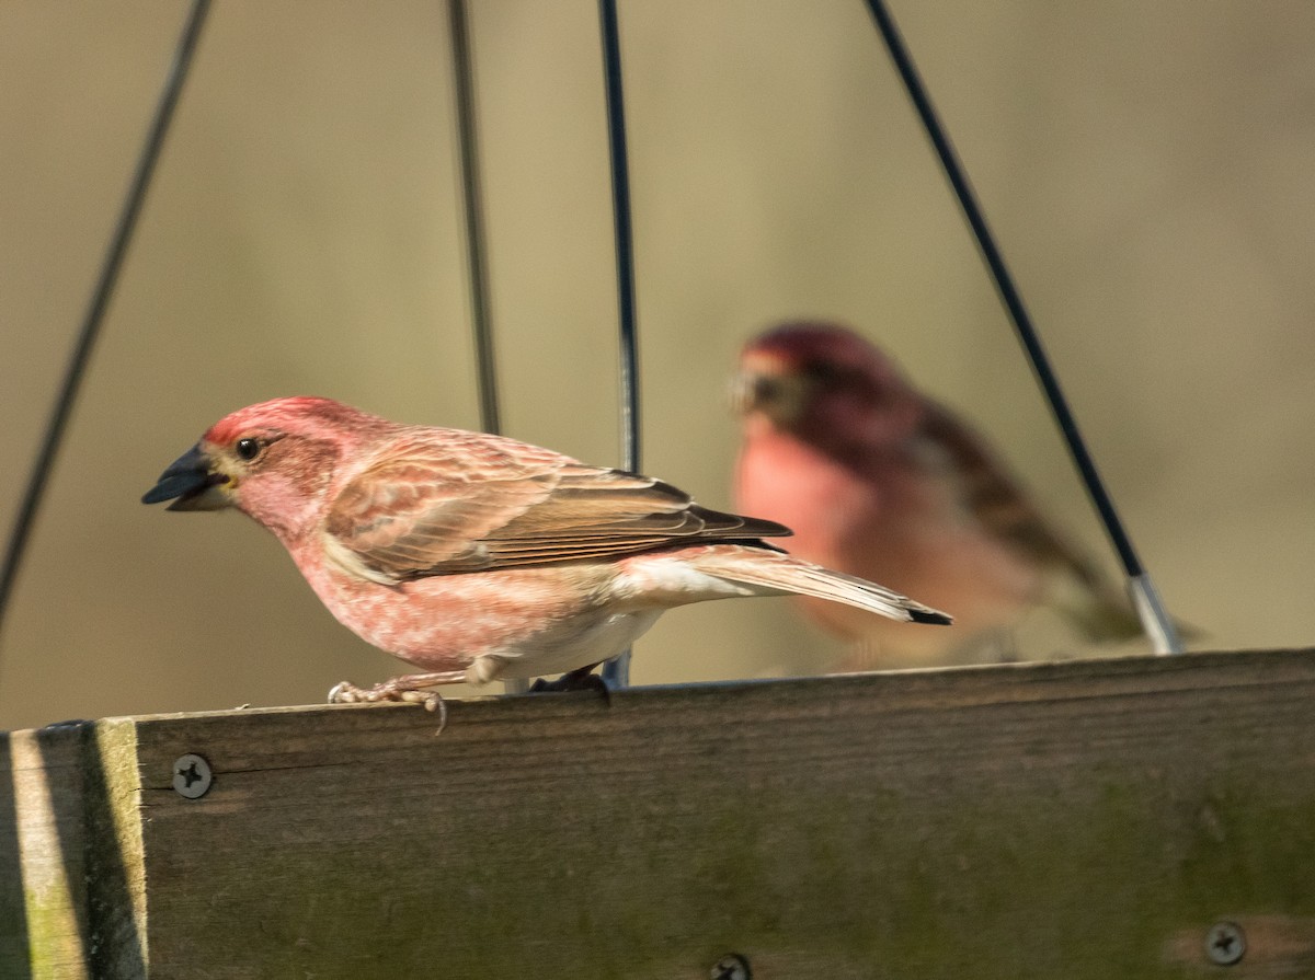
[[[1095,469],[1095,461],[1091,458],[1090,452],[1088,452],[1082,434],[1078,431],[1077,420],[1069,410],[1064,391],[1060,389],[1059,378],[1051,369],[1049,359],[1041,347],[1041,339],[1032,326],[1032,319],[1028,317],[1027,309],[1023,306],[1023,298],[1014,285],[1014,278],[1005,265],[1005,259],[999,248],[995,246],[995,239],[986,225],[986,218],[977,202],[977,197],[968,183],[968,177],[964,175],[949,137],[945,135],[945,130],[936,116],[931,97],[927,95],[917,67],[914,67],[903,38],[899,35],[899,30],[890,17],[884,0],[867,0],[867,3],[877,22],[877,30],[881,32],[881,37],[890,53],[890,59],[894,62],[896,70],[899,72],[899,78],[909,92],[909,99],[913,101],[918,117],[922,120],[927,138],[936,150],[936,156],[940,159],[945,177],[955,190],[955,197],[959,200],[960,208],[963,208],[964,217],[973,230],[977,247],[981,250],[982,257],[990,268],[995,289],[999,292],[1001,301],[1009,311],[1019,342],[1027,351],[1032,370],[1041,385],[1041,390],[1045,393],[1045,399],[1049,402],[1055,422],[1064,435],[1064,441],[1068,445],[1069,455],[1073,457],[1073,464],[1077,466],[1088,495],[1091,498],[1091,503],[1095,506],[1101,522],[1105,524],[1105,531],[1114,544],[1114,550],[1118,552],[1119,561],[1123,564],[1123,570],[1128,577],[1130,591],[1134,595],[1134,604],[1136,606],[1137,615],[1141,617],[1143,629],[1145,629],[1147,636],[1155,645],[1156,653],[1181,653],[1182,642],[1174,629],[1173,620],[1169,619],[1162,606],[1160,606],[1151,575],[1141,565],[1141,560],[1132,546],[1132,540],[1124,531],[1123,522],[1119,520],[1114,501],[1106,491],[1101,474]],[[1151,602],[1147,596],[1156,598]]]

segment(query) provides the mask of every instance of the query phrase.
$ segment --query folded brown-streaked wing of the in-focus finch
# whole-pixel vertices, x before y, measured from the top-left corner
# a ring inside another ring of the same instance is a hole
[[[341,490],[325,531],[339,558],[394,581],[789,533],[650,477],[480,434],[400,441]]]

